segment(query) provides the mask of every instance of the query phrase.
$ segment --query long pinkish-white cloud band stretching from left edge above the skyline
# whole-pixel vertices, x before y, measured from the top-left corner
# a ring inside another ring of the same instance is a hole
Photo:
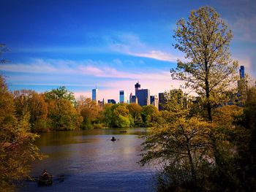
[[[113,62],[116,62],[115,59]],[[118,60],[118,62],[121,62]],[[141,69],[137,72],[125,72],[118,71],[117,69],[110,67],[110,64],[103,61],[64,61],[64,60],[43,60],[34,59],[29,64],[4,64],[0,66],[0,70],[4,72],[16,72],[16,73],[32,73],[32,74],[86,74],[91,77],[112,77],[120,79],[157,79],[161,80],[169,72],[162,72],[155,70],[152,72],[145,72],[145,69]]]

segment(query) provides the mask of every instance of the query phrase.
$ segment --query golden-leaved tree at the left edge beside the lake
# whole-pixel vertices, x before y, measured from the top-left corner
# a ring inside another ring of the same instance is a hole
[[[11,191],[12,181],[28,176],[31,162],[42,155],[30,133],[29,113],[15,117],[13,95],[0,76],[0,188]]]

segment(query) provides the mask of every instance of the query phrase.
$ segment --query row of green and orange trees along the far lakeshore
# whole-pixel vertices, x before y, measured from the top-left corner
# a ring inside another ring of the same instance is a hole
[[[32,132],[151,126],[159,115],[152,105],[105,104],[99,107],[84,96],[76,100],[64,86],[45,93],[21,90],[13,94],[16,115],[18,118],[29,115]]]

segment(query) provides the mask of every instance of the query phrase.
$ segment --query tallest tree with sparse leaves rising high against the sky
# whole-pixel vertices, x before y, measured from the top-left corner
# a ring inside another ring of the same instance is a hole
[[[172,77],[184,80],[186,87],[202,97],[211,121],[212,108],[221,104],[236,82],[238,63],[230,58],[229,52],[233,34],[212,7],[200,7],[190,13],[187,22],[178,20],[173,38],[186,61],[178,60],[176,69],[171,69]]]

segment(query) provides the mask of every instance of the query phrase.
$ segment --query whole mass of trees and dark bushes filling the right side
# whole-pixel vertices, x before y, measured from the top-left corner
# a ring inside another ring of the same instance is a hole
[[[176,48],[186,61],[171,73],[199,96],[181,101],[167,93],[140,164],[160,169],[159,191],[256,191],[256,91],[244,79],[235,83],[231,31],[211,7],[177,25]]]

